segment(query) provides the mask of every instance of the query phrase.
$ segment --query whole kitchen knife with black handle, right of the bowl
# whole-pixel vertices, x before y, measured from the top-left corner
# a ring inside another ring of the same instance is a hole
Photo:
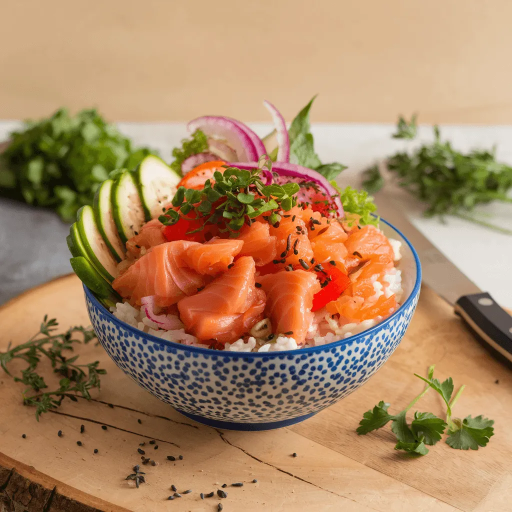
[[[487,292],[482,292],[446,256],[392,205],[383,193],[375,199],[377,211],[403,232],[416,249],[423,282],[455,307],[471,330],[512,361],[512,316]]]

